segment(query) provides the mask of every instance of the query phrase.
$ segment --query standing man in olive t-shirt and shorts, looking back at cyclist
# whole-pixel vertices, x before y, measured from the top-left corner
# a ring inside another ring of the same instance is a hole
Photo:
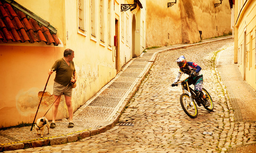
[[[58,106],[60,102],[61,96],[60,94],[65,95],[66,105],[68,107],[69,112],[69,125],[68,127],[74,127],[73,123],[73,106],[72,106],[72,86],[71,83],[75,83],[77,81],[76,70],[73,62],[73,58],[75,57],[74,51],[72,49],[66,49],[64,51],[64,57],[58,59],[49,69],[48,74],[52,74],[53,71],[56,71],[54,85],[53,85],[53,95],[54,95],[54,105],[52,108],[52,123],[50,127],[52,129],[55,128],[55,118],[58,112]]]

